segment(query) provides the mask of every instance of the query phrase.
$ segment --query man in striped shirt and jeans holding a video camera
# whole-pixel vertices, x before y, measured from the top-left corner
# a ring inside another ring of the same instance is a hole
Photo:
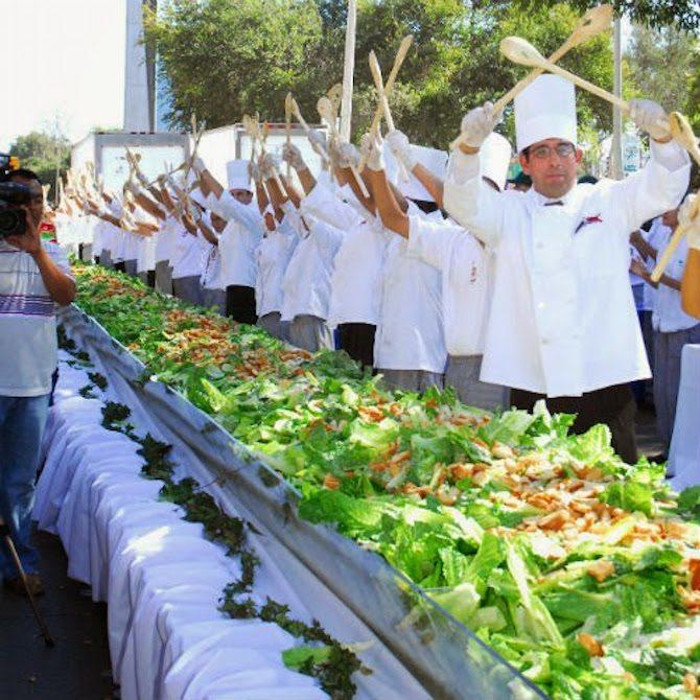
[[[34,481],[56,368],[55,304],[70,304],[76,287],[61,249],[41,240],[44,193],[37,175],[20,169],[3,180],[23,185],[18,190],[27,203],[11,206],[16,230],[0,230],[0,514],[30,588],[40,594],[38,553],[30,544]],[[23,593],[4,544],[0,573],[5,588]]]

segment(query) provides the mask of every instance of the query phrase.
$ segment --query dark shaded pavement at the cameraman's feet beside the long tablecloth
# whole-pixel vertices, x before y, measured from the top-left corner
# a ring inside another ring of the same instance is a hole
[[[46,594],[39,608],[56,646],[47,648],[28,601],[0,589],[0,698],[107,700],[113,697],[107,606],[66,575],[57,537],[36,536]]]

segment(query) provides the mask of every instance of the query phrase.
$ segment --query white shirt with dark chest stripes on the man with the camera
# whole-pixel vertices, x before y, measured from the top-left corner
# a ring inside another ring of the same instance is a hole
[[[59,246],[42,245],[71,275]],[[32,256],[0,238],[0,396],[48,394],[55,368],[55,304]]]

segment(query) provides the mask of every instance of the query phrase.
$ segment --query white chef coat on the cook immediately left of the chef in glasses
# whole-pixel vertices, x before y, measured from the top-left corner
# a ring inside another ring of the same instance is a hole
[[[484,352],[492,256],[452,221],[409,217],[408,250],[442,273],[445,346],[452,356]]]

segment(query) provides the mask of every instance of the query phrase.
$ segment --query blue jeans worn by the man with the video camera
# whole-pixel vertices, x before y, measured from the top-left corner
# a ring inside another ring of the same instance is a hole
[[[27,573],[35,573],[39,562],[29,535],[39,448],[48,410],[48,394],[0,396],[0,515],[10,528]],[[18,575],[4,542],[0,545],[0,574],[3,578]]]

